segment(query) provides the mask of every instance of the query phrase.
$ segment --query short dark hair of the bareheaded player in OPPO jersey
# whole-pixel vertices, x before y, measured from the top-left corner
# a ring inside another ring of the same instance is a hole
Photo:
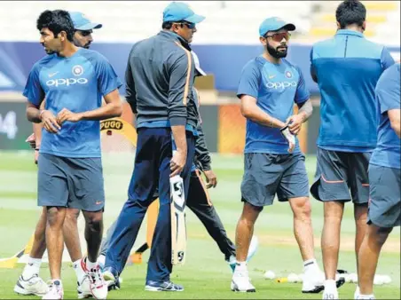
[[[46,10],[42,12],[36,21],[37,30],[42,30],[43,28],[49,28],[49,30],[54,34],[54,36],[59,36],[61,31],[67,33],[67,40],[72,42],[74,36],[74,23],[67,11]]]

